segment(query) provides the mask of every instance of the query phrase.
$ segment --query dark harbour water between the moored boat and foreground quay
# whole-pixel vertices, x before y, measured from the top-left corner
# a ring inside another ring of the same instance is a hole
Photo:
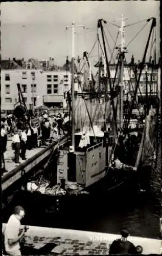
[[[18,203],[16,199],[14,204],[3,211],[3,222],[7,222],[12,214],[13,207]],[[86,210],[85,205],[82,212],[75,214],[63,214],[44,212],[43,214],[35,212],[28,208],[28,202],[24,202],[26,216],[22,224],[76,229],[84,231],[96,231],[105,233],[119,234],[122,227],[129,229],[131,236],[159,239],[159,216],[154,203],[149,195],[140,194],[137,197],[119,196],[113,200],[113,197],[105,197],[101,203],[94,203],[91,210]]]

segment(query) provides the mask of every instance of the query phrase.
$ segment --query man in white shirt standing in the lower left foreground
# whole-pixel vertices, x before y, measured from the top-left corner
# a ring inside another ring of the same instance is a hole
[[[4,231],[5,250],[8,255],[21,255],[20,239],[24,236],[25,230],[20,232],[20,220],[24,218],[25,210],[21,206],[14,208]]]

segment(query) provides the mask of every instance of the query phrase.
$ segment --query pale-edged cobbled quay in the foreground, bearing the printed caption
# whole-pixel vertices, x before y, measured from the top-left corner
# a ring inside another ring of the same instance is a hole
[[[4,227],[5,224],[3,224]],[[37,255],[40,253],[43,255],[106,255],[109,252],[110,244],[121,236],[119,234],[29,226],[25,238],[25,246],[31,248],[31,253],[32,250],[37,251]],[[160,253],[160,240],[140,237],[129,237],[128,240],[135,246],[141,245],[143,254]]]

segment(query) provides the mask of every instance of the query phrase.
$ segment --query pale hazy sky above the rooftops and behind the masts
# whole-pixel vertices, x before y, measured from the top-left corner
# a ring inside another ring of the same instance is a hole
[[[72,29],[75,25],[75,53],[83,56],[83,51],[91,51],[97,37],[99,18],[107,21],[104,30],[111,51],[120,25],[118,18],[128,17],[126,25],[156,17],[156,49],[159,57],[159,5],[160,1],[60,1],[60,2],[1,2],[1,56],[5,58],[30,57],[39,60],[52,57],[55,65],[63,65],[67,54],[72,53]],[[125,28],[125,44],[140,31],[146,22]],[[126,58],[130,61],[141,59],[147,42],[151,22],[128,46]],[[99,36],[101,38],[100,32]],[[101,39],[102,41],[102,39]],[[117,45],[120,45],[120,37]],[[108,48],[107,48],[108,49]],[[70,58],[70,57],[69,57]],[[108,60],[110,53],[108,53]],[[98,59],[96,44],[91,60]]]

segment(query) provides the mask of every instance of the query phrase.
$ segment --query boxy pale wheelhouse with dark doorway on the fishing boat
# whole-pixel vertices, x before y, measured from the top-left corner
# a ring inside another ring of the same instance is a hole
[[[110,160],[113,135],[102,131],[75,134],[75,150],[70,152],[72,141],[59,146],[57,182],[77,183],[87,187],[105,176]],[[107,146],[107,150],[106,150]]]

